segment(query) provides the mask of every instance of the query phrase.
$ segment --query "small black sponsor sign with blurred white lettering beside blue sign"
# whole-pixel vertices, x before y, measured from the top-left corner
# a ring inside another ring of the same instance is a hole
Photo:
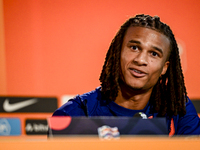
[[[48,124],[46,119],[27,119],[25,131],[27,135],[47,135]]]

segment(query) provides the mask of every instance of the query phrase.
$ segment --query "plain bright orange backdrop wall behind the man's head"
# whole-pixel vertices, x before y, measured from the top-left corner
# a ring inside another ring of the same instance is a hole
[[[200,98],[199,8],[199,0],[3,0],[1,94],[60,97],[93,90],[120,25],[145,13],[171,26],[188,95]]]

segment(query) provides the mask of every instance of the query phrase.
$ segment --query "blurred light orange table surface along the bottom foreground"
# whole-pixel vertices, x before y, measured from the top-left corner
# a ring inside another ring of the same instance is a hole
[[[129,136],[47,138],[37,136],[0,137],[0,150],[200,150],[200,137]]]

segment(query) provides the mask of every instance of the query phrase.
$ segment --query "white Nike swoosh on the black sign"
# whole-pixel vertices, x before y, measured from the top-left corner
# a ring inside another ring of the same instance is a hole
[[[36,103],[37,101],[38,101],[37,98],[33,98],[33,99],[25,100],[23,102],[17,102],[14,104],[10,104],[9,99],[6,99],[3,103],[3,108],[6,112],[13,112],[13,111],[19,110],[21,108],[30,106],[30,105]]]

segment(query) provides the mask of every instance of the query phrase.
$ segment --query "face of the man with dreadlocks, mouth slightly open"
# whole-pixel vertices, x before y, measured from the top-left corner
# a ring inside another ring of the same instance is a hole
[[[170,41],[145,27],[129,27],[121,49],[122,80],[132,89],[152,90],[167,71]]]

